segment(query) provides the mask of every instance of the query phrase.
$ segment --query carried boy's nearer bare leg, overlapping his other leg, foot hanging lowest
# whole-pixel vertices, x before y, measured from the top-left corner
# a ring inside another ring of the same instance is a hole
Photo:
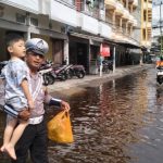
[[[16,142],[18,141],[18,139],[21,138],[21,136],[22,136],[22,134],[23,134],[23,131],[24,131],[24,129],[26,128],[27,125],[28,125],[28,123],[25,122],[25,121],[20,122],[20,124],[13,130],[13,135],[11,137],[10,142],[5,147],[5,151],[14,160],[16,160],[16,154],[15,154],[14,147],[15,147]]]

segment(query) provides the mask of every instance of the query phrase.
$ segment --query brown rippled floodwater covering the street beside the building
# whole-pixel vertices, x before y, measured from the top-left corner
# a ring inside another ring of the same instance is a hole
[[[162,163],[163,89],[154,68],[91,84],[67,100],[75,141],[49,141],[50,163]],[[0,114],[1,140],[3,126]],[[0,162],[8,158],[1,155]]]

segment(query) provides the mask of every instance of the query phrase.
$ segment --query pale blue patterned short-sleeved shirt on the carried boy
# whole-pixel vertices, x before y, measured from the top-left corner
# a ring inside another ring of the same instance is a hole
[[[2,76],[4,76],[5,102],[21,111],[21,109],[27,106],[27,99],[21,87],[24,79],[28,80],[32,92],[29,68],[21,59],[10,60],[2,70]]]

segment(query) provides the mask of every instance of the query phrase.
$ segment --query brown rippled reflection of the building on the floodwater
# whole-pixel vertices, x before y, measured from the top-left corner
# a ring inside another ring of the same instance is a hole
[[[139,74],[126,76],[87,90],[70,99],[75,142],[68,147],[51,143],[50,161],[131,161],[127,147],[139,140],[137,130],[143,125],[142,116],[148,105],[146,77]]]

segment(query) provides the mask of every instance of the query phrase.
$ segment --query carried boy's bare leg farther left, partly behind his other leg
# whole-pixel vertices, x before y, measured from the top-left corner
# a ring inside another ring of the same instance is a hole
[[[12,134],[16,124],[17,124],[17,118],[7,115],[7,126],[4,129],[3,146],[0,149],[2,152],[5,151],[5,147],[10,142],[10,139],[12,137]]]

